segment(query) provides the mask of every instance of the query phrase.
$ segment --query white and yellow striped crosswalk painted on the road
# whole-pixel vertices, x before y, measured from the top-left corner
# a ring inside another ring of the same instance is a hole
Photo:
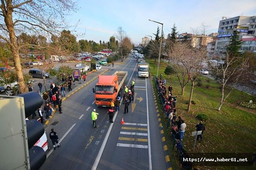
[[[148,148],[147,124],[125,123],[121,127],[117,146],[130,148]]]

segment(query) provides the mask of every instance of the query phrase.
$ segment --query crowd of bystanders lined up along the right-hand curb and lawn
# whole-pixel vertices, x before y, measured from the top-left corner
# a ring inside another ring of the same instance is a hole
[[[184,119],[177,114],[176,103],[178,96],[174,96],[172,94],[171,85],[166,88],[166,80],[162,77],[162,74],[160,74],[160,76],[156,78],[156,85],[158,90],[158,96],[162,101],[166,119],[168,120],[168,125],[170,126],[173,146],[175,145],[177,148],[182,168],[186,170],[191,170],[193,164],[191,162],[183,161],[183,158],[189,158],[189,155],[187,154],[182,144],[182,141],[184,140],[184,133],[186,130],[186,123]],[[200,121],[199,124],[196,125],[196,128],[196,131],[202,130],[202,134],[197,136],[197,140],[199,140],[200,138],[202,141],[203,131],[205,130],[205,125],[203,124],[203,121]]]

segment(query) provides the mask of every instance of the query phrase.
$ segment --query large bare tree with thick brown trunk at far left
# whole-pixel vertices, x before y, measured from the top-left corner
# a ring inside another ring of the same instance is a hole
[[[0,38],[10,46],[18,85],[23,93],[27,89],[19,57],[22,46],[18,44],[17,36],[21,32],[48,37],[59,34],[59,30],[67,26],[64,21],[66,12],[76,10],[76,4],[72,0],[1,0],[0,8]]]

